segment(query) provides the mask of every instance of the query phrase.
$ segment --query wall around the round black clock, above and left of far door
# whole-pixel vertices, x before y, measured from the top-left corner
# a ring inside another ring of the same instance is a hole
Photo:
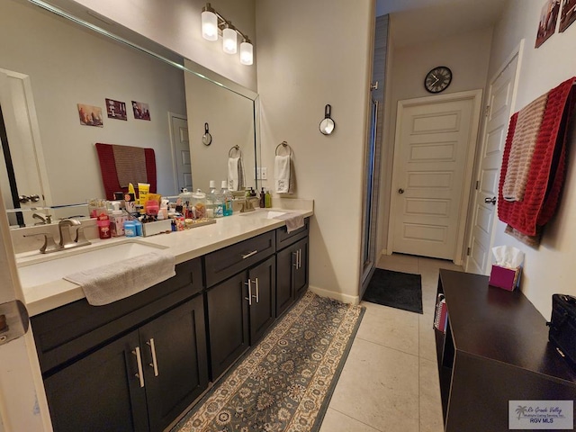
[[[394,25],[394,15],[391,26]],[[392,31],[392,30],[391,30]],[[471,31],[446,40],[435,40],[429,44],[394,48],[391,41],[390,55],[393,58],[392,71],[387,80],[387,96],[390,95],[390,110],[383,137],[383,187],[381,189],[381,211],[379,223],[383,238],[382,247],[388,239],[388,214],[390,193],[396,188],[392,184],[392,157],[396,132],[396,112],[398,101],[430,96],[424,88],[424,76],[436,66],[450,67],[453,73],[451,85],[443,94],[484,88],[488,76],[488,61],[491,47],[491,29]],[[392,251],[387,251],[392,253]]]

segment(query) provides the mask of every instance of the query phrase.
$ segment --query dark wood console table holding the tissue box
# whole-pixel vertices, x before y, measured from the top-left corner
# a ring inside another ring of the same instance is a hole
[[[523,293],[444,269],[438,293],[448,308],[446,333],[435,330],[446,432],[509,430],[509,401],[576,400],[576,373]]]

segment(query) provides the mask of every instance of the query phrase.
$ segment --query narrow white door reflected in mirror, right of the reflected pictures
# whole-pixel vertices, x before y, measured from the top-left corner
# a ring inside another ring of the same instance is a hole
[[[190,161],[190,139],[188,138],[188,121],[184,115],[170,113],[172,139],[172,157],[175,162],[176,190],[184,187],[192,191],[192,163]]]

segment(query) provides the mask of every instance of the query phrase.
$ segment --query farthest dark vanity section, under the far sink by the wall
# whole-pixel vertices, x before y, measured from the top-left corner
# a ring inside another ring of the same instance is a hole
[[[290,234],[285,227],[276,230],[277,244],[284,246],[276,253],[276,316],[308,288],[308,219],[304,228]]]

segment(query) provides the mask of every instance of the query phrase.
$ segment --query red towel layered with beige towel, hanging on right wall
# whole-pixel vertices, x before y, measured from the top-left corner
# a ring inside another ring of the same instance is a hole
[[[500,170],[498,217],[508,224],[508,234],[529,246],[539,244],[542,229],[560,201],[568,123],[576,105],[575,84],[576,76],[510,118]],[[510,189],[509,184],[523,186]]]

